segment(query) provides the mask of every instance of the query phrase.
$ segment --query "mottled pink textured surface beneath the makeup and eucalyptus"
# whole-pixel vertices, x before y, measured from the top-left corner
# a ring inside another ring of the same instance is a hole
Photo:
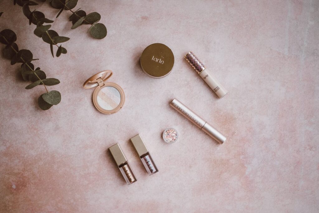
[[[2,1],[0,28],[17,33],[36,66],[61,84],[48,111],[41,86],[26,90],[19,65],[0,58],[0,212],[318,212],[318,1],[79,1],[98,11],[103,40],[70,30],[64,11],[52,29],[70,37],[52,58],[22,8]],[[32,8],[54,19],[58,10]],[[13,15],[14,14],[14,15]],[[139,56],[151,43],[175,56],[152,79]],[[1,49],[4,45],[1,44]],[[218,99],[183,58],[193,51],[229,93]],[[111,69],[123,109],[104,115],[83,82]],[[169,107],[174,97],[227,136],[219,145]],[[162,131],[176,128],[167,144]],[[140,133],[159,172],[148,176],[129,139]],[[127,186],[108,151],[120,143],[138,181]]]

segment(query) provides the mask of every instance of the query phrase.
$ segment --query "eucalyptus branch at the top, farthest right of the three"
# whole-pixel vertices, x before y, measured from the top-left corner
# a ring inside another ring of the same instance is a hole
[[[42,0],[45,1],[45,0]],[[93,38],[102,39],[107,35],[107,29],[104,24],[98,23],[101,19],[101,15],[97,12],[91,12],[86,15],[86,12],[83,10],[72,11],[76,7],[78,0],[52,0],[51,6],[60,9],[56,18],[60,16],[63,10],[69,10],[72,12],[72,15],[69,17],[72,21],[73,26],[71,29],[75,29],[82,24],[90,24],[91,27],[88,29],[88,32],[92,35]]]

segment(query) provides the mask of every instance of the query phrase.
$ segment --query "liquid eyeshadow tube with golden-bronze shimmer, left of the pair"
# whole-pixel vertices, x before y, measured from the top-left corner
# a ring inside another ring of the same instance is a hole
[[[117,143],[108,149],[110,150],[110,152],[115,160],[115,163],[119,167],[126,183],[128,185],[130,185],[130,184],[134,183],[135,181],[137,181],[137,179],[135,178],[135,175],[130,167],[130,164],[126,160],[119,144]]]

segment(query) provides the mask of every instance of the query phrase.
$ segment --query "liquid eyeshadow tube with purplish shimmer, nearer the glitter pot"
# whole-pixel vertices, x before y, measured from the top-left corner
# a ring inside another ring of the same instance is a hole
[[[135,147],[137,154],[140,156],[142,164],[144,165],[147,173],[149,175],[152,175],[158,172],[159,170],[157,169],[141,136],[139,134],[134,136],[133,138],[131,138],[131,142],[133,143],[133,146]]]

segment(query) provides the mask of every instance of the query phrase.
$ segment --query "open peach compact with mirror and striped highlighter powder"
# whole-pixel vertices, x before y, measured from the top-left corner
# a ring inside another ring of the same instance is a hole
[[[104,70],[93,75],[83,84],[85,89],[96,87],[93,93],[93,103],[96,109],[104,114],[113,114],[124,104],[123,89],[115,83],[106,82],[112,74],[111,70]]]

